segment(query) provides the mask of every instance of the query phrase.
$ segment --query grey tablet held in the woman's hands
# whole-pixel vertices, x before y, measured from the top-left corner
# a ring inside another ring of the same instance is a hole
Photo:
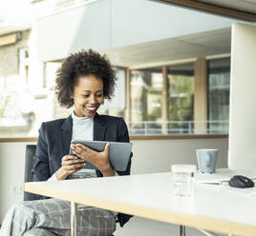
[[[86,147],[90,147],[96,151],[103,151],[106,144],[109,146],[109,160],[114,170],[124,171],[129,163],[130,155],[132,152],[131,143],[121,142],[106,142],[106,141],[87,141],[87,140],[73,140],[72,144],[82,144]],[[70,154],[74,155],[73,149],[70,147]],[[91,163],[86,162],[84,168],[96,169]]]

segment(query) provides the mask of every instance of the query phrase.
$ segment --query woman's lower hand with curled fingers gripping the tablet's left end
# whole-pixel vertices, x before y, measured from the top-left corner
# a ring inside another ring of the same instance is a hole
[[[70,174],[75,173],[85,165],[84,160],[75,155],[65,155],[61,159],[61,167],[55,173],[56,178],[57,180],[65,180]]]

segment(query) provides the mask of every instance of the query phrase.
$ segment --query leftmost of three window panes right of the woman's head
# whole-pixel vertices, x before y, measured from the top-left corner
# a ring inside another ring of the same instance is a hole
[[[131,70],[130,134],[161,133],[161,68]]]

